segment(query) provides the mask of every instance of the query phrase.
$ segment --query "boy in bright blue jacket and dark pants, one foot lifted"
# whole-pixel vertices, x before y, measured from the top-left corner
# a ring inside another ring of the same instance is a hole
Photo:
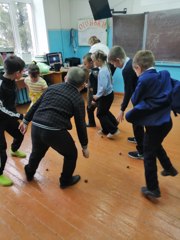
[[[161,172],[163,176],[178,174],[162,146],[172,128],[170,112],[173,80],[169,72],[155,70],[151,51],[137,52],[133,59],[133,68],[139,79],[132,96],[134,108],[126,114],[126,119],[145,126],[143,147],[146,186],[141,191],[146,197],[158,198],[161,193],[156,158],[164,169]]]

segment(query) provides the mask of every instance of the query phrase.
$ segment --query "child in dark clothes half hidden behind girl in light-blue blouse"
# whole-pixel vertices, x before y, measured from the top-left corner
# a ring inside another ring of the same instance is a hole
[[[96,122],[94,118],[94,111],[97,108],[96,102],[93,101],[93,95],[97,93],[97,80],[99,68],[94,67],[93,61],[91,59],[91,53],[86,54],[83,57],[83,65],[87,68],[89,73],[89,79],[87,84],[87,114],[88,114],[88,124],[87,127],[96,127]]]

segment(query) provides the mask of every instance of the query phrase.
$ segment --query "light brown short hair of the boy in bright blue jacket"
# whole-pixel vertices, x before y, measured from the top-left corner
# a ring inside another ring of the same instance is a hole
[[[140,50],[133,58],[133,67],[140,66],[142,70],[146,70],[155,65],[155,57],[150,50]]]

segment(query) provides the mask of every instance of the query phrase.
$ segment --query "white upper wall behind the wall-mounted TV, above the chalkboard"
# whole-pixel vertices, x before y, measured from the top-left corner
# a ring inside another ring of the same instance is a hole
[[[47,29],[77,29],[78,19],[93,18],[89,0],[43,2]],[[127,8],[127,14],[133,14],[180,8],[180,0],[109,0],[109,6],[115,11]]]

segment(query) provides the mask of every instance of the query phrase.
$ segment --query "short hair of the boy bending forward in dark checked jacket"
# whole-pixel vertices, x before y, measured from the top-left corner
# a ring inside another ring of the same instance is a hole
[[[67,73],[67,82],[79,88],[86,80],[86,73],[80,67],[71,67]]]

